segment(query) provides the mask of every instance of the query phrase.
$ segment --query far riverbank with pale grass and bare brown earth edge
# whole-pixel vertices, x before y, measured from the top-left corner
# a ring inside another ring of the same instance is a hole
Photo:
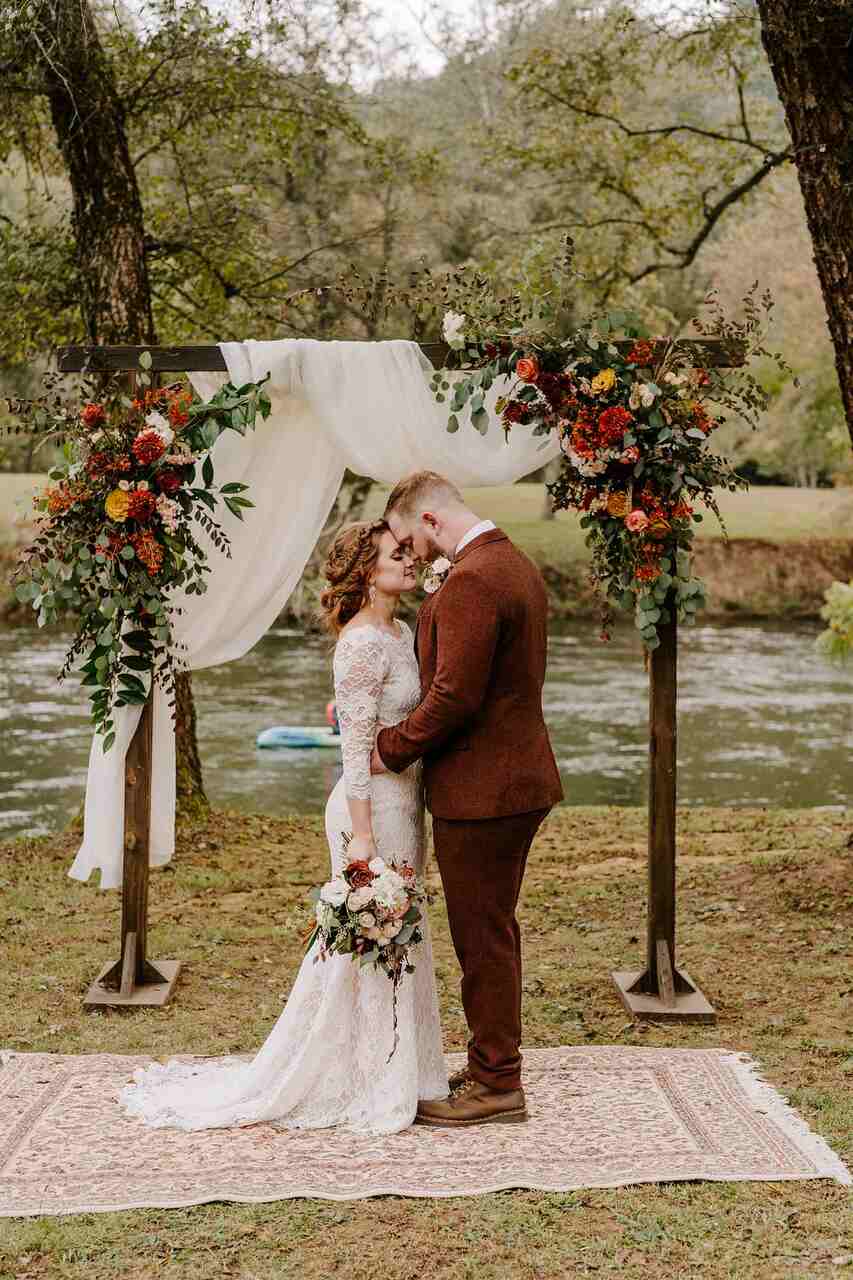
[[[9,623],[32,617],[15,600],[8,579],[15,545],[27,536],[26,504],[41,479],[0,476],[0,620]],[[386,486],[374,488],[368,516],[382,513],[386,494]],[[544,520],[539,484],[469,489],[466,498],[539,564],[555,621],[597,614],[576,513]],[[703,618],[817,618],[826,588],[853,579],[853,489],[760,486],[747,494],[724,493],[720,506],[729,540],[720,536],[711,513],[697,530],[695,566],[708,588]],[[304,581],[280,621],[311,626],[319,591],[318,580]]]

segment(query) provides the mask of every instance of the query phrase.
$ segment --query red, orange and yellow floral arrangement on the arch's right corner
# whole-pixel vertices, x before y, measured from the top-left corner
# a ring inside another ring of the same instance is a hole
[[[712,433],[736,413],[756,425],[766,394],[745,369],[767,352],[761,306],[748,296],[743,324],[725,320],[713,297],[711,320],[694,321],[717,338],[734,369],[707,367],[707,353],[690,340],[649,339],[638,317],[598,316],[564,340],[516,328],[508,334],[469,326],[461,312],[444,315],[452,384],[435,374],[439,401],[450,394],[448,431],[488,429],[485,394],[497,379],[508,389],[494,402],[505,433],[529,428],[560,440],[562,470],[548,486],[555,509],[581,513],[592,550],[590,576],[603,596],[602,636],[612,608],[635,614],[647,650],[660,645],[658,627],[672,617],[692,622],[704,603],[690,549],[701,522],[697,503],[715,512],[715,490],[747,488],[710,447]],[[474,332],[471,332],[471,328]],[[626,334],[616,339],[619,332]],[[725,527],[724,527],[725,532]]]

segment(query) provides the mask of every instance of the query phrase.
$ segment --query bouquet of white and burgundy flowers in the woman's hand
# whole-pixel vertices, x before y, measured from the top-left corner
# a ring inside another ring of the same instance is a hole
[[[350,840],[345,837],[345,850]],[[423,941],[420,904],[426,892],[407,863],[355,859],[339,876],[310,893],[315,904],[315,925],[309,950],[319,943],[314,957],[348,955],[361,965],[373,965],[393,983],[393,1046],[397,1050],[397,988],[403,974],[414,973],[410,948]]]

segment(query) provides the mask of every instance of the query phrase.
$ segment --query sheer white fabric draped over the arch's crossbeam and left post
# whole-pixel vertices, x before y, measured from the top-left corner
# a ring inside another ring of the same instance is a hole
[[[510,440],[492,411],[501,392],[487,397],[487,435],[462,425],[447,433],[447,404],[429,387],[432,366],[414,342],[222,343],[231,381],[270,374],[272,413],[245,438],[227,431],[214,447],[216,484],[250,486],[255,508],[245,521],[223,508],[219,520],[232,557],[210,550],[205,595],[175,603],[179,657],[191,669],[240,658],[255,645],[300,581],[309,556],[348,467],[394,484],[421,468],[459,485],[507,484],[556,457],[558,444],[515,428]],[[202,397],[225,380],[193,374]],[[88,762],[83,844],[70,867],[74,879],[100,870],[101,888],[122,883],[124,756],[140,708],[115,713],[115,742],[105,754],[96,736]],[[174,851],[174,730],[163,690],[154,691],[151,865]]]

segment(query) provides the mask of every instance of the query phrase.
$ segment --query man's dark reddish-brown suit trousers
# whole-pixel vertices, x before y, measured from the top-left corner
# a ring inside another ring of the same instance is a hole
[[[528,852],[547,813],[433,818],[435,859],[462,969],[469,1071],[492,1089],[521,1087],[521,934],[515,909]]]

